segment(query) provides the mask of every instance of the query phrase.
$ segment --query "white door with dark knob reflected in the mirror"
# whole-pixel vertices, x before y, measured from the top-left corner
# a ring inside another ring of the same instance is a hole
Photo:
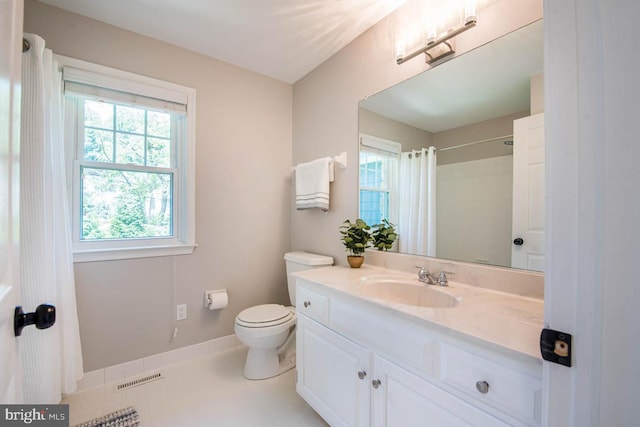
[[[513,122],[511,266],[544,271],[544,114]]]

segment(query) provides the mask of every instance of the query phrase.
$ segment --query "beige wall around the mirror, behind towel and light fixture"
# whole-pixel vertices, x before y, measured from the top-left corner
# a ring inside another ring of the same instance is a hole
[[[293,161],[347,151],[349,167],[331,187],[327,214],[291,206],[291,245],[335,257],[345,265],[338,227],[358,214],[358,101],[425,69],[422,57],[395,63],[395,35],[415,20],[417,0],[357,38],[293,86]],[[478,25],[457,37],[458,54],[542,18],[542,0],[496,0],[478,11]]]

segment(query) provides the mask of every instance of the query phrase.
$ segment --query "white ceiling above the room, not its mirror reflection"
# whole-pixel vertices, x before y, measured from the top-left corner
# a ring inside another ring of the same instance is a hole
[[[39,0],[294,83],[405,0]]]

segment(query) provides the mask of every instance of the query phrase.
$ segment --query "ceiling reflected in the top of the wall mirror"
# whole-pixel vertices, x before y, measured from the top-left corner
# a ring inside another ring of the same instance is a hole
[[[526,112],[530,77],[543,71],[543,59],[540,20],[370,96],[360,107],[433,133]]]

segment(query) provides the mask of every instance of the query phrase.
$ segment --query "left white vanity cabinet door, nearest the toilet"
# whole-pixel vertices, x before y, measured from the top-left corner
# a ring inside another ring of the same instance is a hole
[[[300,315],[296,359],[296,390],[322,418],[333,427],[369,426],[367,350]]]

